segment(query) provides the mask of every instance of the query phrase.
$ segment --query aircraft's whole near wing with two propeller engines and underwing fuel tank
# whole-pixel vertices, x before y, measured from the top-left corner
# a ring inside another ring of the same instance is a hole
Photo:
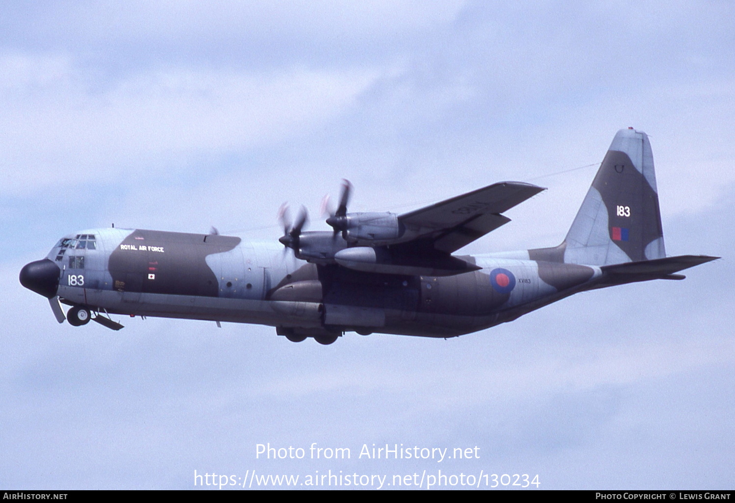
[[[500,182],[404,215],[347,213],[351,184],[345,180],[340,208],[326,222],[334,232],[301,232],[284,224],[279,240],[295,257],[337,263],[378,274],[451,276],[480,267],[452,252],[510,221],[503,211],[544,190],[523,182]],[[326,205],[325,205],[326,206]]]

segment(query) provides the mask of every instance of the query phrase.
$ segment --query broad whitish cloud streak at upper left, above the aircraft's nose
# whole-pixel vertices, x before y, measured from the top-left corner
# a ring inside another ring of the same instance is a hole
[[[365,69],[268,74],[183,68],[91,90],[65,57],[0,60],[5,193],[79,180],[158,176],[203,153],[282,142],[343,113],[375,79]]]

